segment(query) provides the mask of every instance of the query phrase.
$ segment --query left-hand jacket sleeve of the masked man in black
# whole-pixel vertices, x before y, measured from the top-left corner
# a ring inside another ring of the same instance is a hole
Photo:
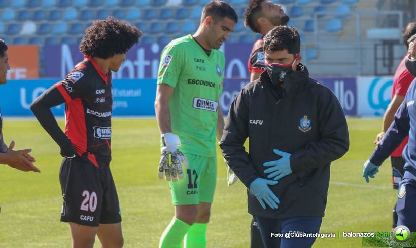
[[[247,188],[259,177],[250,164],[249,154],[244,147],[249,134],[248,102],[249,95],[245,93],[245,89],[242,89],[231,104],[220,142],[225,160]]]

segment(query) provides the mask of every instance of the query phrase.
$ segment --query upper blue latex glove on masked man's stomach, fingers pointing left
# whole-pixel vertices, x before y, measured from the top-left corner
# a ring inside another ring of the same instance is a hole
[[[278,149],[273,150],[274,153],[281,156],[281,159],[265,162],[263,163],[263,166],[270,167],[266,170],[264,170],[264,173],[270,173],[267,177],[273,178],[273,180],[279,180],[283,178],[284,176],[287,176],[292,173],[292,169],[290,168],[290,153],[280,151]]]

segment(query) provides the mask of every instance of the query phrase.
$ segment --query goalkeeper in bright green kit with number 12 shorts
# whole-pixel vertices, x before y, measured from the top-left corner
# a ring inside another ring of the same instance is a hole
[[[175,217],[159,247],[206,247],[206,229],[217,180],[216,137],[224,119],[219,104],[225,66],[218,49],[238,17],[222,1],[207,4],[193,35],[162,51],[155,111],[161,133],[159,178],[169,181]],[[181,164],[183,167],[181,167]]]

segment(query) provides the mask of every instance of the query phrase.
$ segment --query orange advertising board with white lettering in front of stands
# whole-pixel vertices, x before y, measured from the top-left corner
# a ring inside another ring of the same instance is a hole
[[[7,49],[10,70],[7,79],[39,78],[39,53],[36,45],[10,45]]]

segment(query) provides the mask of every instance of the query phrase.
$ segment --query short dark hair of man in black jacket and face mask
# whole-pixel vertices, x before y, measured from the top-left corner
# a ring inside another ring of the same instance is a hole
[[[264,36],[263,49],[273,52],[286,49],[296,56],[300,53],[299,33],[294,27],[277,26]]]

